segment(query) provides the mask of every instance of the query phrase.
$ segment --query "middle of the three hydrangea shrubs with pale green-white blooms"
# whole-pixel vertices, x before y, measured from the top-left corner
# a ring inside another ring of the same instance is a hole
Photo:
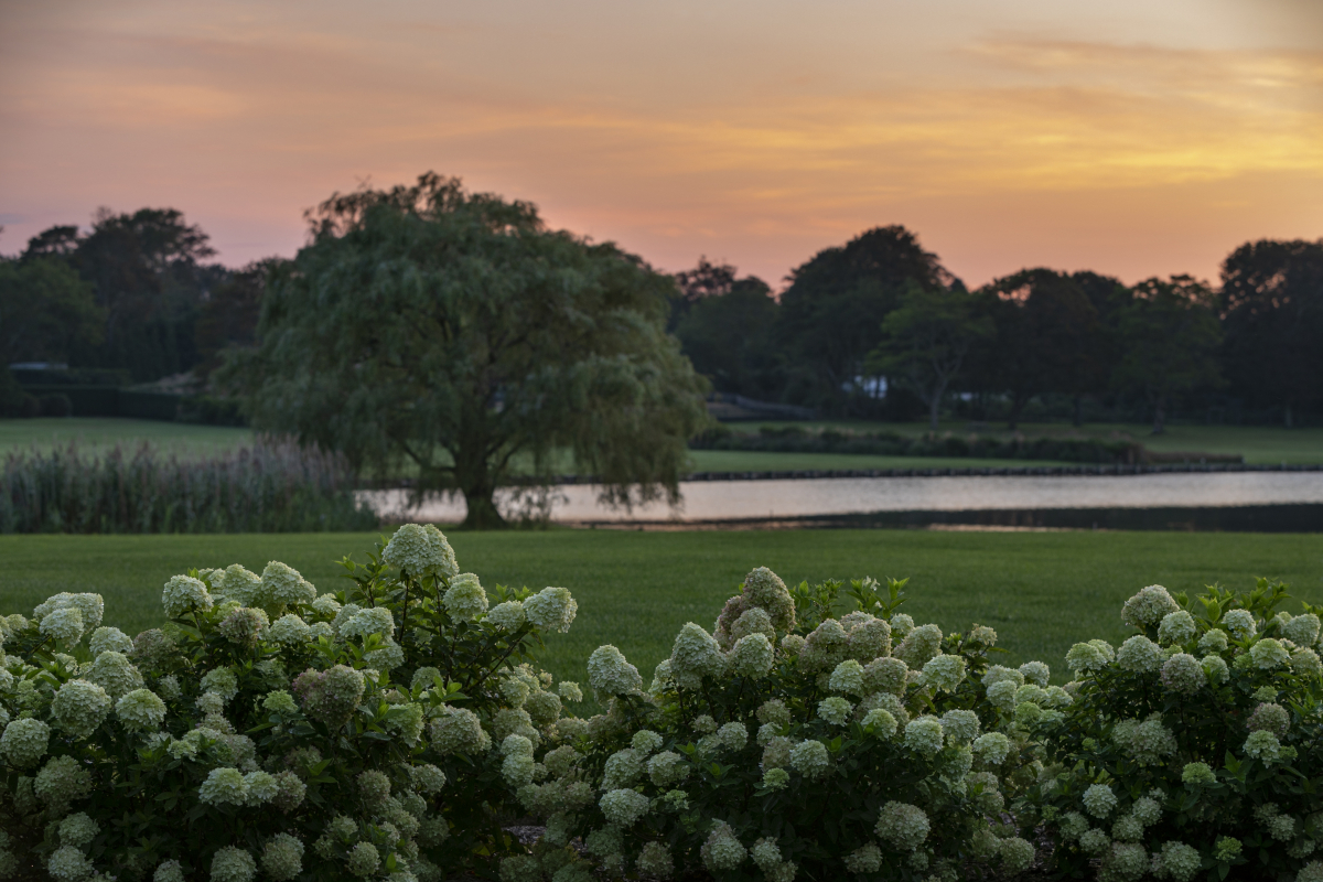
[[[519,789],[546,844],[579,838],[611,878],[954,881],[971,858],[1029,866],[1033,846],[999,812],[1041,764],[988,686],[1045,685],[1046,666],[990,666],[991,628],[916,627],[893,614],[902,584],[855,582],[859,608],[836,618],[839,583],[791,592],[759,567],[712,632],[684,625],[647,692],[599,648],[589,685],[607,713],[562,719],[576,731]],[[1069,703],[1032,689],[1024,703],[1041,713]],[[509,861],[503,878],[552,877]]]

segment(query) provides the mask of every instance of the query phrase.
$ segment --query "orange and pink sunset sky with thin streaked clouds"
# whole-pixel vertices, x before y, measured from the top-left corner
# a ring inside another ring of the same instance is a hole
[[[1316,0],[0,0],[0,253],[173,206],[218,259],[434,169],[774,286],[904,223],[967,283],[1323,237]]]

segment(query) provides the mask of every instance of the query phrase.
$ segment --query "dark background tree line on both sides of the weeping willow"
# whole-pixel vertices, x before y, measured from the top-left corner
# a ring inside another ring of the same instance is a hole
[[[0,259],[0,358],[205,380],[255,341],[269,279],[288,264],[212,257],[175,209],[53,226]],[[665,329],[714,390],[836,418],[935,421],[954,403],[1011,427],[1044,402],[1077,423],[1146,413],[1155,431],[1176,409],[1293,426],[1323,407],[1323,241],[1242,245],[1216,287],[1040,267],[971,291],[885,226],[786,282],[777,296],[705,258],[675,275]]]

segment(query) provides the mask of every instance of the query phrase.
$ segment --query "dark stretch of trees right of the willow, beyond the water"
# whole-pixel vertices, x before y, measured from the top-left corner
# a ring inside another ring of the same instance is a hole
[[[954,398],[1013,428],[1050,398],[1160,432],[1177,407],[1290,427],[1323,406],[1323,241],[1242,245],[1216,287],[1039,267],[970,291],[886,226],[819,251],[779,298],[706,259],[676,282],[671,329],[714,389],[831,417],[935,427]]]

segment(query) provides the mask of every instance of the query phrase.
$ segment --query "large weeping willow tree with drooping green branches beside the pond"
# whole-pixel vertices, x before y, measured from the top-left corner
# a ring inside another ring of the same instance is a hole
[[[665,333],[669,276],[434,173],[308,220],[310,245],[269,276],[258,344],[226,366],[254,426],[376,473],[411,463],[421,491],[464,495],[476,529],[504,525],[512,467],[546,479],[565,451],[606,502],[679,500],[706,418]]]

